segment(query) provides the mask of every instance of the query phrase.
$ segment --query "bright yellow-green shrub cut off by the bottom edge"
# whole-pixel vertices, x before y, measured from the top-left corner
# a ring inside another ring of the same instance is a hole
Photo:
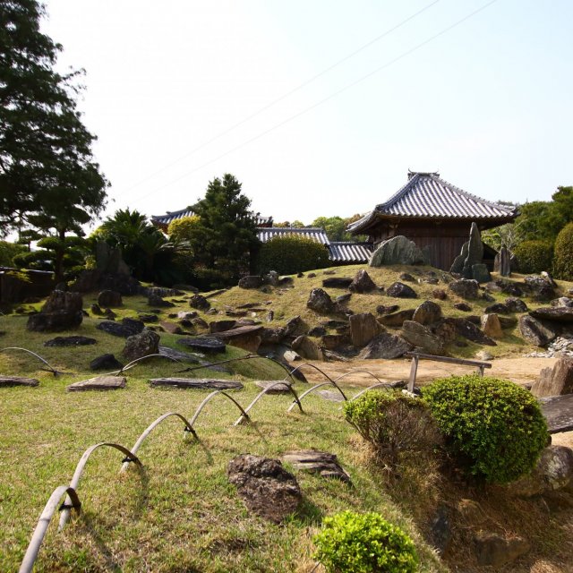
[[[378,513],[343,511],[325,517],[313,542],[314,556],[327,571],[410,573],[417,569],[410,537]]]

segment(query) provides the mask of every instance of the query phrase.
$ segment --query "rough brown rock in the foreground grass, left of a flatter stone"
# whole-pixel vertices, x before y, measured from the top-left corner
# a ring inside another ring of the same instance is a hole
[[[278,459],[243,454],[229,462],[227,476],[247,509],[274,523],[293,514],[303,497],[295,476]]]

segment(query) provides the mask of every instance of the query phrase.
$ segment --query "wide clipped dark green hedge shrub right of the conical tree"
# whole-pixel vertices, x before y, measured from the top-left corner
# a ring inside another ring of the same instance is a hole
[[[257,261],[261,273],[276,270],[279,275],[323,269],[330,264],[323,244],[297,235],[276,236],[262,244]]]

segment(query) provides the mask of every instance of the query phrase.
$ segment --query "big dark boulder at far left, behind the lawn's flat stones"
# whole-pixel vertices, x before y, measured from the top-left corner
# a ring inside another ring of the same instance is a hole
[[[75,329],[83,321],[80,293],[55,290],[40,312],[30,314],[26,328],[34,332],[60,332]]]

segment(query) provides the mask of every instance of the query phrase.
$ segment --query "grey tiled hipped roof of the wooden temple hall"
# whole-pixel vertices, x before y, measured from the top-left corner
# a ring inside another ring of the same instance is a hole
[[[438,173],[409,173],[408,182],[388,201],[377,205],[349,230],[359,231],[377,216],[421,218],[514,218],[516,210],[507,205],[485,201],[440,178]]]

